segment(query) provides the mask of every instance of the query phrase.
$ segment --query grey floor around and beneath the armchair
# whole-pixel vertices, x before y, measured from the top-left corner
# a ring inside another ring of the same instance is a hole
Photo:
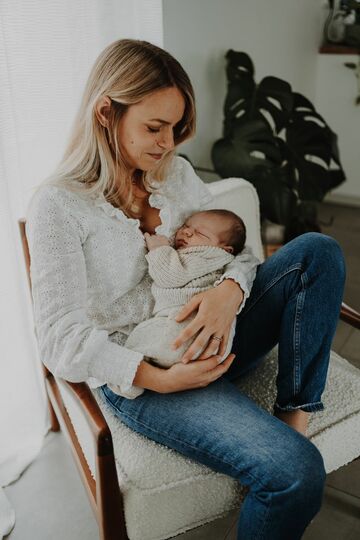
[[[360,311],[360,209],[322,204],[319,212],[323,232],[344,250],[348,272],[344,300]],[[333,349],[360,368],[360,331],[340,322]],[[98,539],[95,518],[61,433],[46,437],[41,454],[6,493],[17,516],[9,540]],[[176,539],[235,540],[236,521],[234,511]],[[321,511],[303,538],[359,540],[360,460],[328,475]]]

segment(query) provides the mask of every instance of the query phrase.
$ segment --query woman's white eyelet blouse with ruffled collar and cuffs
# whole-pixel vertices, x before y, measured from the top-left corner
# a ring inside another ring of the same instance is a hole
[[[170,237],[190,214],[213,207],[206,185],[180,157],[166,182],[155,185],[149,202],[160,210],[158,234]],[[44,186],[32,198],[26,230],[35,328],[41,360],[55,376],[132,388],[143,356],[123,344],[154,307],[139,225],[103,196]],[[244,250],[222,279],[237,281],[246,299],[258,264]]]

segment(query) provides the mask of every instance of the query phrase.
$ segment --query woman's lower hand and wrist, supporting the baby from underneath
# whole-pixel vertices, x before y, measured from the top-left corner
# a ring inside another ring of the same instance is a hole
[[[207,360],[195,360],[188,365],[182,362],[174,364],[169,369],[162,369],[159,376],[157,391],[162,394],[169,392],[181,392],[193,388],[202,388],[223,375],[231,366],[235,358],[234,354],[219,364],[221,356],[212,356]]]

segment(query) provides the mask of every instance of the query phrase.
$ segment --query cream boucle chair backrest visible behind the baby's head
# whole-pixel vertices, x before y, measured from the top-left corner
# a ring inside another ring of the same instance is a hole
[[[232,210],[246,226],[246,244],[262,262],[264,252],[260,234],[260,206],[256,189],[242,178],[226,178],[208,184],[215,198],[214,208]]]

